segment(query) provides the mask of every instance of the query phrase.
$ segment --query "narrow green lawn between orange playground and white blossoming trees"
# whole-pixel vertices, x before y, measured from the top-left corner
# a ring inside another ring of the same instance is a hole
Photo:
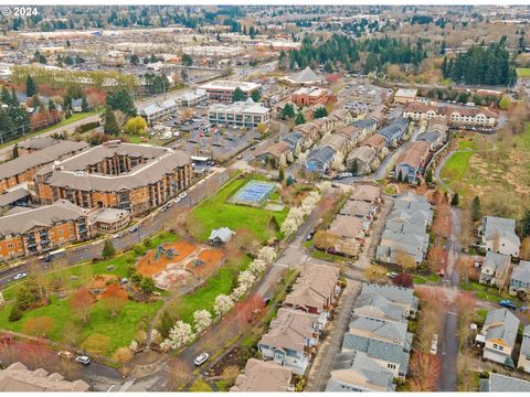
[[[235,267],[224,266],[210,277],[201,287],[194,291],[179,298],[174,308],[174,314],[178,319],[192,324],[193,312],[195,310],[206,309],[212,314],[213,303],[220,293],[230,294],[234,287],[235,276],[246,269],[251,258],[244,257],[243,261]]]

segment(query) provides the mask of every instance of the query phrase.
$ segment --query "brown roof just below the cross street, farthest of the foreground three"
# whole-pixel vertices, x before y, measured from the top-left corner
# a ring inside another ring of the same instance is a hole
[[[339,269],[330,266],[306,265],[285,303],[301,308],[324,308],[332,296]]]

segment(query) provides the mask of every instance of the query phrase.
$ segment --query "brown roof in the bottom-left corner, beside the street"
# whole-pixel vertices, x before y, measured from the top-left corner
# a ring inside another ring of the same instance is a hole
[[[84,380],[65,380],[61,374],[49,374],[43,368],[28,369],[22,363],[0,371],[0,391],[88,391]]]

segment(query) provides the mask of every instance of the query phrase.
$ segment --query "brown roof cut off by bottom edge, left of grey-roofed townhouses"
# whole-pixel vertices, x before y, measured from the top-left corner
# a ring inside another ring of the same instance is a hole
[[[273,361],[250,358],[230,391],[287,391],[293,371]]]

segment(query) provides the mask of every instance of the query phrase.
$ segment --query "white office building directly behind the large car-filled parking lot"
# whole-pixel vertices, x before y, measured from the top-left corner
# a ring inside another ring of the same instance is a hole
[[[252,98],[227,105],[213,104],[208,109],[208,120],[212,125],[256,127],[271,121],[271,109],[255,104]]]

